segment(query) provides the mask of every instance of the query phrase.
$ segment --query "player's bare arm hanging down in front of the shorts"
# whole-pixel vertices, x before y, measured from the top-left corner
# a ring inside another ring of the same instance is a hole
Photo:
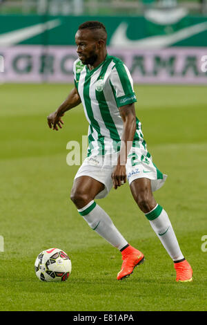
[[[121,148],[117,166],[112,172],[112,183],[115,189],[121,186],[121,182],[123,183],[124,181],[126,183],[126,162],[136,131],[135,103],[119,107],[119,113],[124,123],[124,129],[121,136]]]

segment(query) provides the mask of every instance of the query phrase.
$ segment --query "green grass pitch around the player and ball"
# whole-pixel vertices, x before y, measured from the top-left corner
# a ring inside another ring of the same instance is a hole
[[[50,130],[46,121],[71,87],[0,86],[0,310],[207,310],[207,252],[201,250],[207,235],[206,86],[135,86],[148,151],[168,174],[155,198],[193,267],[194,280],[186,284],[175,282],[173,263],[128,184],[97,201],[146,256],[125,281],[116,279],[121,254],[77,213],[69,197],[78,166],[66,164],[66,145],[81,142],[88,122],[81,105],[66,113],[61,131]],[[51,247],[70,256],[66,282],[41,282],[34,273],[37,254]]]

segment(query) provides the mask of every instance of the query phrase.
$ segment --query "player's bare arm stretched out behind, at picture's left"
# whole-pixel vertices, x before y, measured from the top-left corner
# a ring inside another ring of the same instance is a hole
[[[70,91],[68,97],[59,106],[59,108],[55,112],[48,115],[47,119],[48,119],[48,126],[50,127],[50,129],[57,130],[57,131],[59,130],[58,127],[61,129],[62,128],[61,124],[63,124],[63,120],[61,119],[61,117],[64,115],[66,111],[69,111],[70,109],[79,105],[80,103],[81,103],[81,98],[79,96],[77,88],[74,87],[74,89]]]

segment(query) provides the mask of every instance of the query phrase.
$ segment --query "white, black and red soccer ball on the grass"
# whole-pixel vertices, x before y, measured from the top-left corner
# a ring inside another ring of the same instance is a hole
[[[71,269],[68,255],[59,248],[43,250],[34,263],[34,270],[41,281],[66,281]]]

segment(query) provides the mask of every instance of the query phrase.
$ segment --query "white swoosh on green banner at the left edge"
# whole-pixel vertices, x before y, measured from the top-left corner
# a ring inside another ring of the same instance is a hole
[[[37,24],[34,26],[29,26],[26,28],[21,28],[19,30],[13,30],[12,32],[5,32],[0,35],[0,46],[11,46],[21,41],[25,41],[28,38],[34,37],[36,35],[55,28],[61,24],[60,19],[53,19],[46,21],[43,24]]]

